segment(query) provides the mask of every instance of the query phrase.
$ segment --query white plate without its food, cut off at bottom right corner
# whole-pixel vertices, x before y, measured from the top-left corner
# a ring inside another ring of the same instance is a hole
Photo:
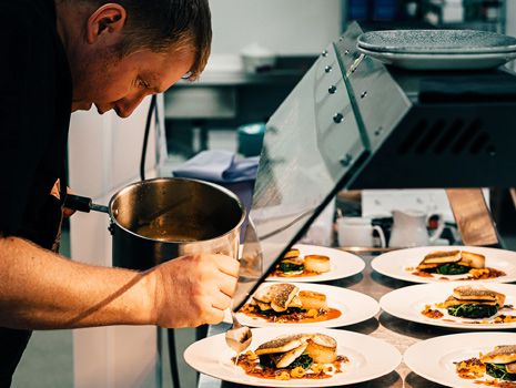
[[[514,333],[465,333],[441,336],[411,346],[403,355],[405,364],[417,375],[446,387],[479,388],[455,372],[454,361],[488,353],[496,345],[516,344]],[[487,376],[486,379],[493,379]]]

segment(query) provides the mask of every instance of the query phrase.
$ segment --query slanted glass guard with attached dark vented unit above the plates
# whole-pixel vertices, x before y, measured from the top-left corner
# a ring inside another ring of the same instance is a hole
[[[362,33],[330,44],[266,124],[235,308],[343,188],[516,185],[514,73],[387,68]]]

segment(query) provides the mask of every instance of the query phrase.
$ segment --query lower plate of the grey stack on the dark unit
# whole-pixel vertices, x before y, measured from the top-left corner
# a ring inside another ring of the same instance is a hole
[[[409,70],[479,70],[498,68],[514,59],[516,52],[487,54],[402,54],[357,49],[378,61]]]

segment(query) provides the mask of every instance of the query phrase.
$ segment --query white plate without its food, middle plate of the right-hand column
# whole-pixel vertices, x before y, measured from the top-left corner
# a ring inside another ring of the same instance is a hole
[[[382,309],[395,317],[416,321],[419,324],[426,324],[432,326],[451,327],[458,329],[486,329],[486,330],[499,330],[499,329],[515,329],[516,323],[510,324],[471,324],[474,320],[485,320],[493,318],[479,318],[479,319],[467,319],[459,318],[448,315],[445,308],[438,310],[444,314],[443,318],[432,319],[425,317],[421,312],[426,305],[431,305],[433,309],[436,303],[442,303],[452,295],[453,289],[457,286],[464,285],[483,285],[486,288],[495,290],[497,293],[505,294],[506,305],[516,306],[516,285],[513,284],[482,284],[478,282],[452,282],[447,284],[434,283],[434,284],[419,284],[416,286],[403,287],[395,289],[380,299],[380,306]],[[502,309],[495,316],[500,314],[516,315],[514,309]],[[446,321],[443,319],[451,319],[454,321]],[[469,324],[468,324],[469,323]],[[515,336],[516,341],[516,336]]]

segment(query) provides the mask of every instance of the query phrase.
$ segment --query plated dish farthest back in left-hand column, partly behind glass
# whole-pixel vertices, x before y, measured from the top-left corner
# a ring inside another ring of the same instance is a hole
[[[351,253],[315,245],[295,245],[267,280],[326,282],[360,274],[365,263]]]

